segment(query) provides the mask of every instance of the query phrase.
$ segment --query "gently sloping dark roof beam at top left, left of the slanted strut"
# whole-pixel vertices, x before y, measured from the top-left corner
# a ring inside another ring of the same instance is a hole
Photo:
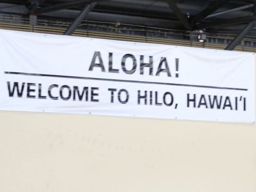
[[[35,13],[37,15],[41,15],[44,13],[55,12],[55,11],[59,11],[59,10],[73,8],[75,6],[84,6],[85,4],[93,3],[95,1],[96,0],[77,0],[77,1],[68,1],[66,3],[53,4],[50,6],[39,8],[39,9],[35,10]]]

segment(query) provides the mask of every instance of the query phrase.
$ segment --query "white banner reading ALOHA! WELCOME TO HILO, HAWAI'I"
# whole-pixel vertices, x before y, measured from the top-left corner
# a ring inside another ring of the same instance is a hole
[[[254,54],[0,30],[0,109],[254,122]]]

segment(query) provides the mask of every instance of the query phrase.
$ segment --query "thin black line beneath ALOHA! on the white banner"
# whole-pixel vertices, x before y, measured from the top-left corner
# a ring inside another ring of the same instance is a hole
[[[196,84],[177,84],[177,83],[161,83],[161,82],[152,82],[152,81],[104,79],[104,78],[95,78],[95,77],[59,76],[59,75],[51,75],[51,74],[31,74],[31,73],[24,73],[24,72],[7,72],[7,71],[5,72],[5,74],[21,75],[21,76],[37,76],[37,77],[59,77],[59,78],[68,78],[68,79],[87,79],[87,80],[112,81],[112,82],[122,82],[122,83],[162,84],[162,85],[171,85],[171,86],[188,86],[188,87],[196,87],[196,88],[210,88],[210,89],[218,89],[218,90],[248,91],[248,89],[244,89],[244,88],[230,88],[230,87],[206,86],[206,85],[196,85]]]

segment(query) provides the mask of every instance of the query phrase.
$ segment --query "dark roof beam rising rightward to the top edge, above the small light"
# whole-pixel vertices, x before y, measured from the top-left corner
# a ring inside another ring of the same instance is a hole
[[[210,6],[205,8],[205,10],[200,12],[191,20],[191,26],[195,26],[197,22],[205,19],[208,15],[221,8],[225,3],[228,3],[228,1],[230,0],[217,0],[215,3],[210,4]]]

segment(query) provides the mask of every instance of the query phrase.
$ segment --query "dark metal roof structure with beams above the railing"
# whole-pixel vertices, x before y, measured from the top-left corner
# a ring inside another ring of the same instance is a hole
[[[84,19],[187,34],[235,35],[226,47],[232,50],[246,35],[256,38],[255,4],[256,0],[0,0],[0,13],[68,20],[66,35]]]

